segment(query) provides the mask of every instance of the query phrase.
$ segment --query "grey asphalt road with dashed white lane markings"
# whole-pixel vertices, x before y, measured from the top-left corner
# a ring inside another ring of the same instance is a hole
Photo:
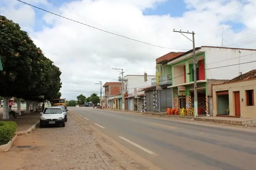
[[[164,170],[256,169],[256,129],[70,107],[106,135]]]

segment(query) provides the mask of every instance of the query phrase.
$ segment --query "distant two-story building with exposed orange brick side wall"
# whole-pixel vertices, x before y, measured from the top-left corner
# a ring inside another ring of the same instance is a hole
[[[105,88],[105,95],[103,96],[103,103],[104,103],[103,105],[105,105],[106,108],[120,107],[118,105],[118,103],[122,103],[122,97],[118,98],[118,95],[120,96],[120,94],[121,94],[122,83],[121,82],[106,82],[102,87]],[[116,98],[116,100],[112,101],[113,96],[117,96],[117,98]]]

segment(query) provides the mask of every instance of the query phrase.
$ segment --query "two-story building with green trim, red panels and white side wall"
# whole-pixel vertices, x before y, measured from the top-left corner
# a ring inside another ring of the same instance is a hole
[[[213,115],[212,85],[223,83],[255,68],[256,50],[201,46],[196,48],[196,81],[199,114]],[[160,65],[171,75],[173,107],[194,107],[193,50],[173,57]],[[162,75],[160,76],[160,78]]]

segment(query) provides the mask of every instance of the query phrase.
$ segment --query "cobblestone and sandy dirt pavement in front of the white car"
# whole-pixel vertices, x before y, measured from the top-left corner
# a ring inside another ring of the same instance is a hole
[[[81,121],[68,113],[64,128],[37,128],[18,136],[9,152],[0,153],[0,165],[5,170],[122,170],[95,141],[89,125]],[[8,161],[12,161],[9,167]]]

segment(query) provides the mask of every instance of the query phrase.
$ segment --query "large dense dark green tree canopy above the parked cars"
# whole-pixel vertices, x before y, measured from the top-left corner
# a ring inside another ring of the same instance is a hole
[[[0,95],[36,100],[56,98],[60,88],[60,69],[46,58],[19,24],[0,16]]]

